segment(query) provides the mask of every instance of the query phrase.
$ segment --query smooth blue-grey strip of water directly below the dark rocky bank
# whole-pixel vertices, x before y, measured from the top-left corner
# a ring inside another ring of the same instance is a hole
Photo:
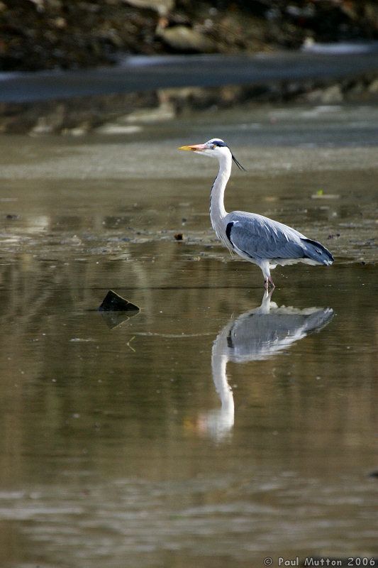
[[[157,55],[80,70],[0,72],[0,102],[24,103],[174,87],[335,80],[377,70],[377,42],[313,44],[302,51],[248,55]],[[183,73],[182,70],[185,69]]]

